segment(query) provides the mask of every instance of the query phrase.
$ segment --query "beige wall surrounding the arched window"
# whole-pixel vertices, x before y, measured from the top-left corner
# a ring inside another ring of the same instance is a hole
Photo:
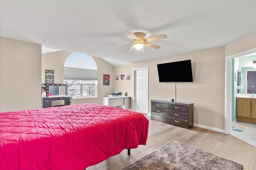
[[[45,70],[54,70],[54,83],[63,83],[64,64],[66,59],[72,54],[68,51],[58,51],[42,55],[42,82],[45,83]],[[107,97],[114,90],[114,66],[99,57],[94,57],[98,69],[98,97],[73,99],[72,104],[97,103],[102,104],[102,98]],[[110,85],[103,85],[103,74],[110,75]]]

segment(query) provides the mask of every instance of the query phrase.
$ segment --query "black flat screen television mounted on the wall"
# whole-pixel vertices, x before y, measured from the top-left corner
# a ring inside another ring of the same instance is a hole
[[[193,82],[191,60],[157,64],[159,82]]]

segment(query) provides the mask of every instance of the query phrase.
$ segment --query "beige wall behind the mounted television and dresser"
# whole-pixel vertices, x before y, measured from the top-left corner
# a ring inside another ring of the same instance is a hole
[[[131,80],[115,81],[114,91],[126,91],[132,96],[133,69],[148,67],[150,113],[150,100],[171,100],[175,95],[174,83],[159,82],[156,64],[188,59],[194,82],[176,84],[176,101],[194,103],[194,123],[224,129],[224,46],[117,66],[114,75],[131,74]]]

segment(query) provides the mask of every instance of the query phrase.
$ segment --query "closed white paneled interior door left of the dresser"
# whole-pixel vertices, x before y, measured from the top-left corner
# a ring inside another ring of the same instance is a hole
[[[148,68],[134,69],[134,111],[148,114]]]

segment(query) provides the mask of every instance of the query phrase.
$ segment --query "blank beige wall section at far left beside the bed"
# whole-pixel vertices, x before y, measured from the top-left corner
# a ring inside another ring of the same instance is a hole
[[[0,37],[0,112],[41,107],[39,44]]]

